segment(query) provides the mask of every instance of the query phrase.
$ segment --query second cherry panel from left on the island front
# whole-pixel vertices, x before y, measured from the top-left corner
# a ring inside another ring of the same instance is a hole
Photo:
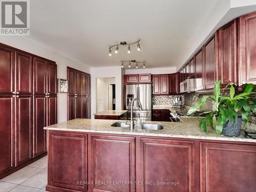
[[[96,136],[91,139],[92,181],[135,181],[135,138]],[[97,184],[90,191],[135,191],[132,184]]]

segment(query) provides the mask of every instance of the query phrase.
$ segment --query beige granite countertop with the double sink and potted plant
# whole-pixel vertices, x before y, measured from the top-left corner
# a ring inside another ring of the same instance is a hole
[[[91,132],[91,133],[107,133],[107,134],[124,134],[124,135],[142,135],[142,136],[159,136],[159,137],[175,137],[189,139],[209,139],[223,141],[243,141],[256,142],[256,139],[240,137],[226,137],[217,135],[215,130],[208,129],[208,132],[203,132],[199,127],[198,118],[181,118],[182,122],[157,122],[164,126],[163,130],[142,130],[137,132],[128,128],[112,127],[111,124],[117,120],[103,119],[73,119],[67,122],[58,123],[44,127],[45,130],[59,131],[75,131],[75,132]],[[126,122],[122,120],[122,122]]]

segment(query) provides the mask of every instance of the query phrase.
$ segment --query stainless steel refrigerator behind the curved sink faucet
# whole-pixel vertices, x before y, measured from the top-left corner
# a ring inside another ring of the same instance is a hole
[[[151,84],[127,84],[126,85],[126,110],[127,119],[131,119],[131,102],[134,98],[138,98],[142,105],[142,111],[139,111],[139,104],[137,101],[133,105],[133,116],[140,117],[144,121],[151,121],[152,118],[152,103],[151,103]],[[135,118],[136,119],[136,118]]]

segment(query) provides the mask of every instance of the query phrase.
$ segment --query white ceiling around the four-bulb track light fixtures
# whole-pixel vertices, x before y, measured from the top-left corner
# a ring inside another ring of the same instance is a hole
[[[180,67],[230,8],[229,0],[33,0],[25,38],[89,67],[146,61],[148,68]],[[206,25],[207,24],[207,25]],[[136,45],[108,48],[120,41]]]

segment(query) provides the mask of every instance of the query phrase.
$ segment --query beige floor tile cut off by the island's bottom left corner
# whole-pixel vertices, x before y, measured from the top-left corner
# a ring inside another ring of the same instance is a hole
[[[40,172],[24,181],[21,185],[42,188],[47,184],[47,169],[42,169]]]

